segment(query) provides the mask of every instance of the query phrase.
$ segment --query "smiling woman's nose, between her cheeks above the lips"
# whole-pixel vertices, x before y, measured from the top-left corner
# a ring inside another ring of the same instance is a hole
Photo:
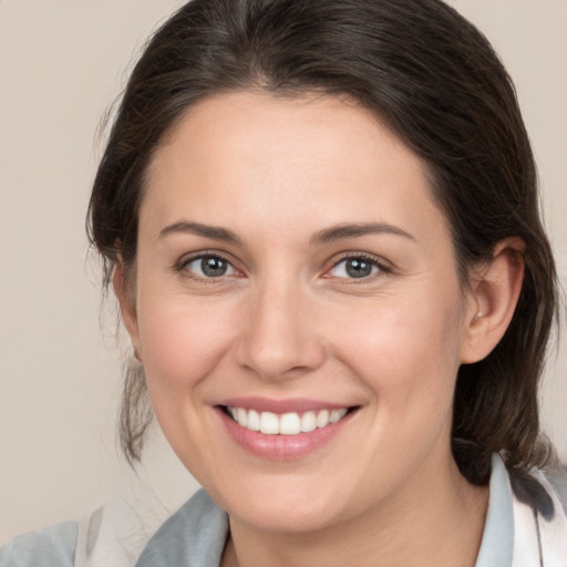
[[[238,363],[264,380],[300,377],[326,358],[312,305],[298,286],[266,286],[250,301],[237,346]]]

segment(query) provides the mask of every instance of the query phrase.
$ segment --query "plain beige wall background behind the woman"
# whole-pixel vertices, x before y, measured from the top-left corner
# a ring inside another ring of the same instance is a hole
[[[0,540],[80,517],[118,494],[165,514],[195,489],[157,431],[133,475],[114,442],[120,349],[86,260],[97,123],[132,58],[179,6],[0,0]],[[567,2],[454,0],[516,80],[567,281]],[[543,399],[567,458],[567,347]],[[137,492],[136,492],[137,491]]]

